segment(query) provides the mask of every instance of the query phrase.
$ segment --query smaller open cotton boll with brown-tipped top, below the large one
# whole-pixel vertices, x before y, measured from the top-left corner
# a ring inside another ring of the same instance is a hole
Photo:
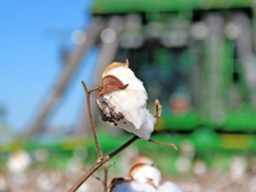
[[[134,165],[129,172],[129,176],[138,183],[148,183],[156,188],[159,186],[161,180],[160,171],[154,165],[145,163]]]

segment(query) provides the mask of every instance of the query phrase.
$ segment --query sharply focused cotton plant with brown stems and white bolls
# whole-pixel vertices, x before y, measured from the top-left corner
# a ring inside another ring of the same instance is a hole
[[[76,191],[84,181],[93,175],[93,173],[101,166],[104,166],[105,179],[99,179],[104,185],[104,191],[107,192],[107,162],[136,140],[142,139],[150,143],[172,147],[177,150],[176,146],[172,143],[162,143],[150,138],[151,133],[154,131],[154,124],[161,116],[162,105],[158,99],[155,99],[155,115],[149,113],[146,108],[148,100],[147,92],[143,86],[143,82],[140,81],[129,68],[128,59],[126,59],[125,63],[113,62],[109,64],[103,70],[102,83],[98,87],[88,89],[84,81],[81,81],[81,83],[86,92],[87,111],[98,159],[93,166],[91,166],[91,168],[88,169],[88,171],[86,171],[73,186],[71,186],[69,192]],[[105,156],[99,145],[96,126],[90,107],[90,93],[93,91],[97,91],[96,102],[99,105],[102,120],[134,134],[134,137]],[[155,192],[156,187],[159,185],[160,172],[155,171],[148,164],[143,166],[143,169],[144,168],[146,171],[138,169],[138,172],[132,172],[129,176],[131,178],[131,181],[129,182],[123,179],[115,179],[115,182],[112,182],[113,185],[111,191],[119,192],[121,190],[125,192],[126,190],[127,192]],[[147,172],[150,174],[147,174]],[[144,175],[145,177],[143,178],[141,175]],[[156,176],[156,178],[154,176]],[[134,189],[134,191],[131,189]]]

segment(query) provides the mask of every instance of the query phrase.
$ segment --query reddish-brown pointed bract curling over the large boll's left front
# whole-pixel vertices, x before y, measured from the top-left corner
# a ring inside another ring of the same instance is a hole
[[[116,89],[125,89],[127,86],[128,84],[124,85],[122,81],[115,76],[108,75],[102,79],[102,84],[99,85],[98,95],[101,96]]]

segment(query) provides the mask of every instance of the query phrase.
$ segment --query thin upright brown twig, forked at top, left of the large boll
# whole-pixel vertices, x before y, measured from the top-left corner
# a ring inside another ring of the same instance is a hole
[[[91,111],[91,105],[90,105],[90,93],[93,92],[93,91],[96,91],[97,88],[93,88],[93,89],[89,90],[87,88],[84,80],[81,81],[81,83],[83,84],[84,90],[86,92],[87,109],[88,109],[91,129],[92,129],[92,132],[93,132],[93,139],[94,139],[94,143],[96,145],[96,150],[97,150],[97,154],[98,154],[98,160],[97,161],[99,162],[99,161],[101,161],[103,159],[103,155],[102,155],[102,151],[101,151],[100,146],[99,146],[99,141],[98,141],[98,138],[97,138],[96,128],[95,128],[95,124],[94,124],[94,120],[93,120],[93,115],[92,115],[92,111]]]

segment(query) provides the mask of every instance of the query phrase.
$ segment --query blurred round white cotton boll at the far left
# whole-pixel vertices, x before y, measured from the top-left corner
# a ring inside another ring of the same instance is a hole
[[[8,158],[8,169],[12,173],[25,171],[32,163],[29,153],[26,151],[15,151]]]

